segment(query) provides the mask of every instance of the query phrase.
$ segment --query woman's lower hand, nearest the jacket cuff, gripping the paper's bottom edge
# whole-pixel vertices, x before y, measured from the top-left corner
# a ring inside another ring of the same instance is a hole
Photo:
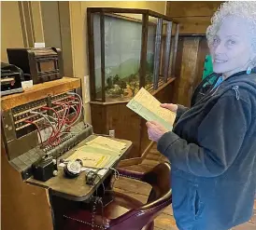
[[[164,133],[170,131],[156,121],[149,121],[146,125],[148,127],[149,140],[153,142],[158,142]]]

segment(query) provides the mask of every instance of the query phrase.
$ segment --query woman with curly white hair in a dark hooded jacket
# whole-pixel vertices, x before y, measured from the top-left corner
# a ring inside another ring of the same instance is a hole
[[[227,230],[249,221],[256,191],[256,2],[226,2],[206,32],[221,78],[191,109],[175,104],[173,131],[148,122],[172,164],[179,230]]]

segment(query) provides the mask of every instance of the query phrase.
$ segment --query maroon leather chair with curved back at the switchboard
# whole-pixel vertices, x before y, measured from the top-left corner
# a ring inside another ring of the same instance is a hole
[[[147,173],[119,169],[121,176],[149,183],[152,189],[147,204],[125,194],[107,191],[114,199],[103,210],[72,210],[64,215],[65,230],[153,230],[154,219],[172,202],[171,167],[162,163]]]

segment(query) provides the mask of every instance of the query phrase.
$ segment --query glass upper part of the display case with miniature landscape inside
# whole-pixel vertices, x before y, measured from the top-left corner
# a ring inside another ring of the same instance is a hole
[[[147,9],[89,7],[91,101],[129,100],[175,77],[178,23]]]

